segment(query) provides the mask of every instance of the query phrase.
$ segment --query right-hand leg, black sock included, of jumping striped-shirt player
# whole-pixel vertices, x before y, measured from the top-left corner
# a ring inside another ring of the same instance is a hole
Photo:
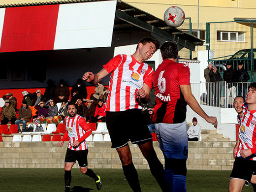
[[[163,192],[169,192],[169,188],[164,179],[163,165],[158,159],[157,154],[153,148],[152,140],[142,145],[139,145],[139,148],[145,159],[148,161],[151,174],[157,180],[161,190]]]

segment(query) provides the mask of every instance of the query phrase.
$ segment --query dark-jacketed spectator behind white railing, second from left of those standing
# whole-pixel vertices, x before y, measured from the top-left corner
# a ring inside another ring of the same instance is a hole
[[[212,69],[209,72],[209,77],[211,82],[221,82],[222,76],[219,70],[215,65],[213,65]],[[220,98],[221,98],[221,92],[222,92],[222,85],[221,84],[213,84],[212,90],[213,90],[213,97],[214,97],[214,106],[220,107]]]

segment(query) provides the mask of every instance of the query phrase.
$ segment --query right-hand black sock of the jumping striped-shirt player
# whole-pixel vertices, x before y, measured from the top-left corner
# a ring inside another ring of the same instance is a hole
[[[164,178],[164,169],[163,165],[160,162],[160,160],[157,157],[157,154],[154,153],[147,158],[148,163],[149,163],[149,168],[151,171],[151,174],[155,177],[157,180],[162,192],[169,192],[169,187],[167,186]]]

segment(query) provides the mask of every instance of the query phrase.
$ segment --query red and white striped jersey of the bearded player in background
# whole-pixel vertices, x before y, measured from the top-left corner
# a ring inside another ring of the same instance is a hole
[[[86,134],[86,132],[89,132],[91,128],[89,128],[85,119],[77,114],[73,118],[70,118],[69,116],[67,116],[65,117],[65,124],[66,124],[66,130],[69,137],[67,148],[74,151],[86,150],[88,147],[85,141],[86,137],[84,137],[84,135]],[[73,147],[73,143],[76,140],[78,140],[80,144],[77,147]]]

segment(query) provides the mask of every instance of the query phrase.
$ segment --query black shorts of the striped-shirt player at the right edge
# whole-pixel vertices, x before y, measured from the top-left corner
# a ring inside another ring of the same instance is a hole
[[[255,175],[256,160],[246,160],[243,158],[235,158],[234,166],[230,178],[245,180],[245,185],[250,185],[252,175]]]

